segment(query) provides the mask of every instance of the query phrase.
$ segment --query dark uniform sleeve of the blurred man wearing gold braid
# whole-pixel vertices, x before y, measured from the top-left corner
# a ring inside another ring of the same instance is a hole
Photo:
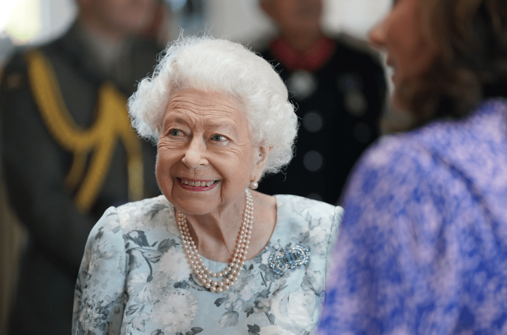
[[[3,172],[10,201],[33,244],[76,273],[96,219],[77,208],[64,186],[72,157],[48,133],[20,58],[6,70],[0,92]]]

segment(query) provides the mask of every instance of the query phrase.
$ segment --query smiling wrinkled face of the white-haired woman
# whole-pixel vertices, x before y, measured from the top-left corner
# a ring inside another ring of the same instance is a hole
[[[243,203],[249,182],[261,177],[266,156],[259,157],[261,147],[252,144],[241,108],[226,95],[197,90],[169,100],[156,174],[162,193],[178,210],[220,213]]]

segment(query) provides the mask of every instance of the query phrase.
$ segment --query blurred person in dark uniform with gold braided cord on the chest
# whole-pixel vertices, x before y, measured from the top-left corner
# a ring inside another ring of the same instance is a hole
[[[27,227],[10,334],[68,334],[88,234],[112,205],[160,194],[156,148],[130,127],[127,97],[163,50],[156,0],[78,0],[60,39],[16,55],[0,92],[3,172]],[[136,37],[137,36],[137,37]]]

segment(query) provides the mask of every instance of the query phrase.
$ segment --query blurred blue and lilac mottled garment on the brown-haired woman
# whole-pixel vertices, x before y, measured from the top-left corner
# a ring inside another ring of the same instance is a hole
[[[505,110],[487,100],[361,158],[319,335],[507,334]]]

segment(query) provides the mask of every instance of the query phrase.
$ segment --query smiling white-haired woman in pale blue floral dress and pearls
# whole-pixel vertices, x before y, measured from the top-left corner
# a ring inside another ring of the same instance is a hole
[[[312,332],[342,209],[249,190],[292,158],[297,119],[272,66],[239,44],[180,38],[129,109],[157,143],[163,195],[97,222],[74,333]]]

